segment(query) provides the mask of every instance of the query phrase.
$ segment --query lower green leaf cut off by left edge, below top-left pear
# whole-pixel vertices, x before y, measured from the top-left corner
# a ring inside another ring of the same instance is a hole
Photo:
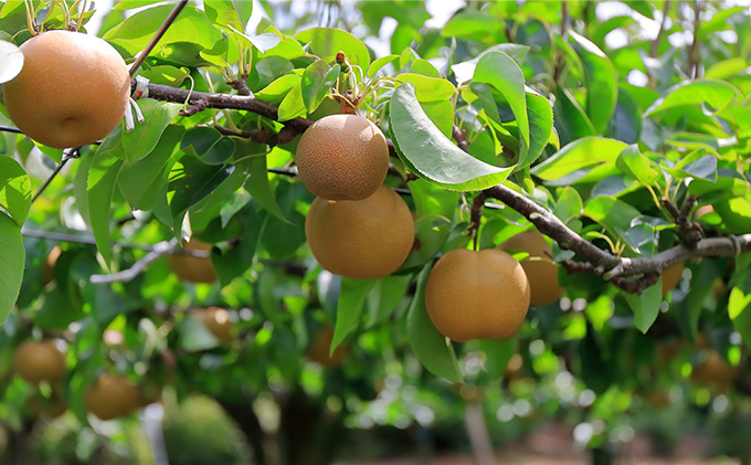
[[[23,282],[24,260],[21,229],[0,212],[0,323],[15,305]]]

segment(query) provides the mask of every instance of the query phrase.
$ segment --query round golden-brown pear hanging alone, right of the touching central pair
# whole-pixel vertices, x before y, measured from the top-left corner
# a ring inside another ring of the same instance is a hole
[[[449,339],[505,339],[516,334],[529,309],[525,270],[498,249],[457,249],[437,261],[425,285],[425,308]]]

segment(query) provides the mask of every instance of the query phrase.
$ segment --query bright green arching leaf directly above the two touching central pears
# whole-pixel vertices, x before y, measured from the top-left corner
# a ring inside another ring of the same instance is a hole
[[[331,62],[338,52],[345,52],[350,64],[367,70],[370,64],[370,52],[358,38],[347,31],[330,28],[311,28],[295,34],[304,44],[309,44],[309,52]]]

